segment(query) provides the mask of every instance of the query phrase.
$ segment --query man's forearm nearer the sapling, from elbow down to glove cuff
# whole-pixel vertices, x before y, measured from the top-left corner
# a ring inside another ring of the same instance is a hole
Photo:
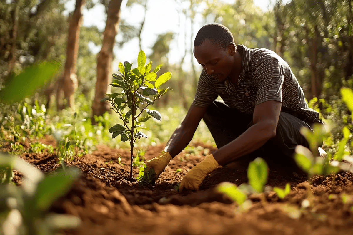
[[[195,131],[196,129],[187,128],[181,124],[169,138],[164,151],[167,151],[172,157],[177,156],[190,143]]]

